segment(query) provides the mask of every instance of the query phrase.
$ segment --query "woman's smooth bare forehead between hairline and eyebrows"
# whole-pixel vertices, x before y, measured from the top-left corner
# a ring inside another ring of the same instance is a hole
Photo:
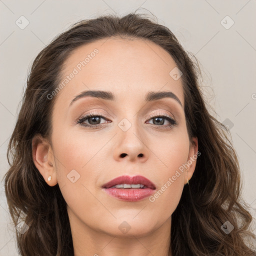
[[[169,53],[151,41],[100,39],[79,46],[66,59],[61,81],[68,81],[57,100],[69,104],[84,90],[112,91],[122,102],[141,100],[148,91],[171,91],[184,105],[181,79],[169,74],[174,67]]]

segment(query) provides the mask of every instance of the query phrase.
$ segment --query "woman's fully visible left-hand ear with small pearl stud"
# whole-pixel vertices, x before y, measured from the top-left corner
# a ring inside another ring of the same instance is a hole
[[[43,176],[45,182],[49,186],[57,184],[55,162],[53,150],[50,143],[41,137],[41,135],[35,135],[32,139],[32,157],[35,167]],[[48,177],[51,179],[48,180]]]

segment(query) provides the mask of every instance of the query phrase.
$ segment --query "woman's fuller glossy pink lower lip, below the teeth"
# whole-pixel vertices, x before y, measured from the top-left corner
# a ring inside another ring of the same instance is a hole
[[[105,192],[124,201],[138,201],[153,193],[151,188],[104,188]]]

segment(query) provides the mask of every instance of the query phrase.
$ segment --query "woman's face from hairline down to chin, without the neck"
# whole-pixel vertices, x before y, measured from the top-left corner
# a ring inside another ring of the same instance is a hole
[[[142,39],[101,39],[80,46],[66,60],[60,91],[52,93],[54,159],[51,154],[48,159],[71,226],[76,223],[112,235],[125,235],[126,228],[128,234],[142,235],[170,220],[195,160],[191,167],[184,164],[198,148],[196,138],[189,147],[181,78],[172,70],[175,67],[164,49]],[[95,93],[77,97],[92,90],[107,91],[113,99],[106,94],[94,97]],[[145,100],[149,91],[175,96]],[[95,117],[77,121],[88,113]],[[136,196],[127,198],[127,190],[120,198],[102,187],[122,175],[144,176],[155,189],[148,188],[146,197],[135,200]],[[54,178],[51,182],[55,184]]]

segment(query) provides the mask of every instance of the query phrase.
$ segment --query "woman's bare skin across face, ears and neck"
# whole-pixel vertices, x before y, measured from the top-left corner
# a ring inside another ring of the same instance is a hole
[[[55,96],[51,143],[33,139],[34,164],[48,185],[58,183],[67,202],[75,256],[170,255],[171,214],[196,160],[153,202],[148,197],[122,201],[101,186],[123,174],[138,174],[158,190],[196,154],[197,138],[189,144],[181,79],[169,75],[176,64],[153,42],[109,38],[77,48],[65,62],[63,77],[94,48],[99,50],[95,57]],[[69,107],[84,90],[111,91],[116,100],[84,97]],[[171,91],[182,106],[172,98],[145,102],[148,91]],[[75,123],[92,111],[108,120],[101,118],[102,126],[96,129]],[[174,117],[177,124],[168,127],[167,119],[163,124],[149,119],[159,113]],[[131,123],[126,131],[118,126],[123,118]],[[74,183],[67,178],[72,169],[80,175]],[[118,228],[123,221],[130,227],[126,233]]]

